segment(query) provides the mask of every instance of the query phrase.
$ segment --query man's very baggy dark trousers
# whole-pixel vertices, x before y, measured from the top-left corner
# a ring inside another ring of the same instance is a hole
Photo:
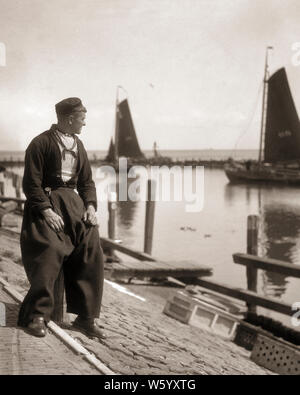
[[[21,252],[30,289],[20,308],[20,326],[35,316],[50,321],[54,284],[62,268],[67,311],[87,318],[100,314],[104,264],[98,228],[83,222],[85,207],[73,189],[53,190],[50,200],[64,220],[64,232],[56,233],[41,213],[24,207]]]

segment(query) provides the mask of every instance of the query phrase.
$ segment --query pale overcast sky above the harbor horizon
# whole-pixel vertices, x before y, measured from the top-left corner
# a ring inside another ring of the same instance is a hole
[[[266,45],[300,110],[299,21],[299,0],[0,0],[0,149],[24,149],[70,96],[87,149],[107,149],[117,85],[142,149],[256,148]]]

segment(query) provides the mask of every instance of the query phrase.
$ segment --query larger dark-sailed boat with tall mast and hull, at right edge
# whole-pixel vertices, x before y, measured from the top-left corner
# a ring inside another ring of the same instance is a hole
[[[231,182],[300,185],[300,122],[284,68],[269,76],[267,48],[258,161],[230,159],[224,170]]]

